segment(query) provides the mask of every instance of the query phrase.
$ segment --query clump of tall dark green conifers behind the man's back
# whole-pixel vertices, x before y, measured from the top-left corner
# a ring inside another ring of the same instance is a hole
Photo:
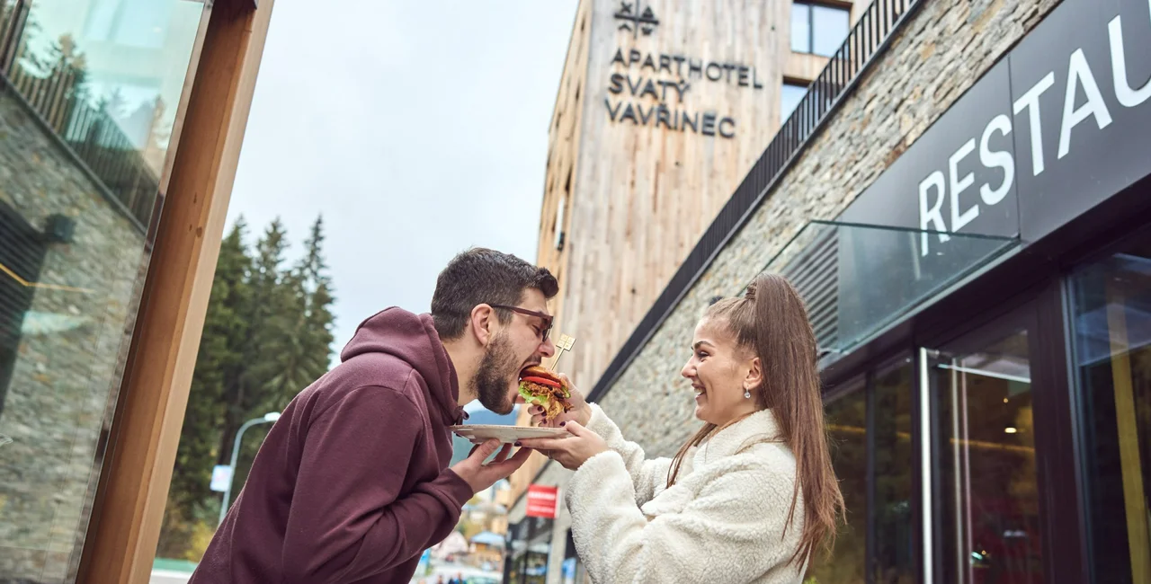
[[[221,502],[208,489],[212,466],[229,464],[239,425],[282,410],[323,375],[331,356],[331,281],[323,261],[323,222],[317,218],[303,258],[284,268],[287,235],[268,225],[256,248],[238,221],[221,244],[216,277],[192,376],[191,394],[165,510],[158,554],[198,560]],[[233,501],[264,436],[244,433]]]

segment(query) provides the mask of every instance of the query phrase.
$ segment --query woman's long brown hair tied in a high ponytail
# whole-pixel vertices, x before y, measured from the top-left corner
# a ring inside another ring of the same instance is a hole
[[[790,560],[802,563],[821,544],[832,544],[837,521],[844,513],[844,495],[831,467],[818,353],[807,308],[786,278],[761,274],[747,286],[744,298],[716,302],[704,318],[725,324],[741,347],[760,358],[763,383],[755,389],[755,398],[771,409],[784,441],[795,455],[796,482],[785,533],[794,524],[802,489],[803,532]],[[704,424],[679,448],[668,471],[669,487],[676,483],[687,452],[718,430],[722,428]]]

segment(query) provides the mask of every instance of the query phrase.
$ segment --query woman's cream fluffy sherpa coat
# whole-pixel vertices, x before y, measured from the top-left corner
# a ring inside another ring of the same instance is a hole
[[[795,458],[770,410],[727,427],[687,453],[665,489],[670,459],[639,445],[592,406],[588,429],[611,448],[567,486],[576,550],[596,584],[793,584],[788,563],[803,530],[802,498],[787,527]]]

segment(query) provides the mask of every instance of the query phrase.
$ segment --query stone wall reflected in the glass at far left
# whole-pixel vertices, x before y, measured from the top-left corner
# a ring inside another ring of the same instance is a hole
[[[51,215],[75,221],[70,241],[44,244],[39,274],[22,275],[35,292],[0,410],[13,440],[0,446],[0,583],[63,583],[99,478],[145,237],[5,89],[0,205],[39,231]]]

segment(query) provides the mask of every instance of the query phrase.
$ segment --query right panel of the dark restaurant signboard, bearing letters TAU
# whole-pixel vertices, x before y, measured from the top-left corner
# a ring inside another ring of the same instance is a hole
[[[1011,74],[1024,240],[1151,174],[1151,1],[1064,2]]]

